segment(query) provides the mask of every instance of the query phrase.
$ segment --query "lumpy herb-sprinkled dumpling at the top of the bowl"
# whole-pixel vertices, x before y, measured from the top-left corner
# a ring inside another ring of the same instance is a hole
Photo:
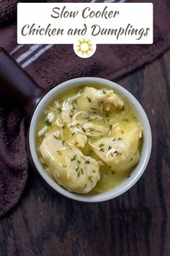
[[[121,109],[124,106],[121,98],[113,92],[113,90],[97,90],[95,88],[86,87],[84,92],[77,100],[77,106],[82,111],[89,113],[102,112]]]

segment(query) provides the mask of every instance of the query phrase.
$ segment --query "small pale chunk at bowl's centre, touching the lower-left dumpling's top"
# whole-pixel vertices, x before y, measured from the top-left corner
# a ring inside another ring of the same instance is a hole
[[[87,142],[86,135],[75,133],[68,139],[68,145],[75,146],[76,148],[84,148]]]

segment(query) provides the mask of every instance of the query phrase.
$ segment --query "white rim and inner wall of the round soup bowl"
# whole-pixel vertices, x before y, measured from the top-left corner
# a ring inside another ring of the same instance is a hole
[[[129,103],[138,114],[138,119],[140,121],[140,124],[143,127],[143,147],[141,151],[140,161],[138,165],[134,168],[134,170],[132,171],[128,179],[125,179],[120,185],[118,185],[114,189],[111,189],[107,192],[103,192],[98,195],[82,195],[82,194],[80,195],[73,192],[69,192],[68,190],[64,189],[45,172],[44,168],[42,168],[40,159],[37,155],[37,150],[35,145],[35,135],[37,132],[37,124],[40,119],[40,116],[42,115],[42,112],[44,111],[46,106],[48,106],[48,104],[51,103],[51,101],[53,101],[53,99],[56,96],[60,95],[61,93],[63,94],[64,92],[67,92],[68,90],[71,90],[73,88],[77,88],[83,85],[91,85],[91,84],[109,86],[110,88],[120,92],[121,95],[123,95],[125,98],[128,99]],[[35,167],[37,168],[37,171],[39,172],[40,176],[42,176],[42,178],[45,180],[45,182],[47,182],[48,185],[50,185],[50,187],[55,189],[55,191],[73,200],[78,200],[82,202],[102,202],[102,201],[115,198],[119,195],[122,195],[128,189],[130,189],[130,187],[133,187],[133,185],[136,182],[138,182],[138,179],[146,169],[146,166],[148,164],[148,161],[151,155],[152,137],[151,137],[151,127],[150,127],[148,118],[146,116],[146,113],[143,110],[143,107],[135,99],[135,97],[128,92],[128,90],[125,90],[120,85],[117,85],[115,82],[111,82],[109,80],[104,80],[97,77],[81,77],[73,80],[68,80],[67,82],[63,82],[61,85],[58,85],[57,87],[53,88],[53,90],[50,90],[50,92],[47,95],[45,95],[44,98],[42,98],[37,108],[35,109],[35,112],[32,116],[32,120],[30,123],[29,144],[30,144],[30,153],[32,155],[32,160],[35,163]]]

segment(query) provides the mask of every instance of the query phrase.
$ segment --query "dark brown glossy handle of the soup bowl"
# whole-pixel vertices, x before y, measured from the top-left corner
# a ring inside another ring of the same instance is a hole
[[[40,88],[4,48],[0,48],[0,88],[3,94],[22,104],[28,118],[48,92]]]

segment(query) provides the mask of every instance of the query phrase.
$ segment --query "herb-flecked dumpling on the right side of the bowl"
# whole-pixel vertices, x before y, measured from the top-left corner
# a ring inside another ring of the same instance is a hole
[[[91,149],[115,172],[128,171],[140,159],[140,126],[132,122],[123,127],[123,131],[115,132],[114,137],[104,137],[93,144],[89,142]]]

